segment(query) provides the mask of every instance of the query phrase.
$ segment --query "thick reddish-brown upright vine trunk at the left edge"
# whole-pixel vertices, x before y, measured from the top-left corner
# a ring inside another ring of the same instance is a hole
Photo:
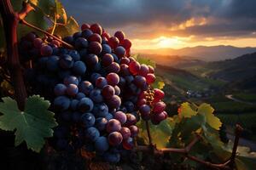
[[[9,67],[11,82],[14,82],[15,99],[20,111],[24,111],[27,94],[19,59],[17,26],[20,20],[23,20],[26,14],[32,10],[34,8],[29,3],[23,3],[23,8],[20,12],[15,12],[10,0],[0,1],[0,12],[3,19],[8,56],[7,65]]]

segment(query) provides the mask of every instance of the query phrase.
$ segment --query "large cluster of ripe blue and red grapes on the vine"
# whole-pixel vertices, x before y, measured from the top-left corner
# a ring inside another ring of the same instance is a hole
[[[32,61],[26,69],[30,90],[49,99],[56,113],[56,147],[84,147],[118,162],[122,150],[133,147],[139,112],[154,124],[166,118],[164,93],[150,88],[154,68],[131,57],[123,31],[111,37],[98,24],[84,24],[62,40],[75,50],[35,33],[20,41],[22,59]]]

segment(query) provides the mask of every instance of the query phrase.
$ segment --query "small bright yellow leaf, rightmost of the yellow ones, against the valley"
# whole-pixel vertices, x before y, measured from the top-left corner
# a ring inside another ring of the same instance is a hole
[[[213,115],[214,109],[211,105],[208,104],[201,104],[198,107],[198,113],[204,115],[206,117],[206,122],[214,129],[219,130],[221,127],[222,122],[220,122],[217,116]]]

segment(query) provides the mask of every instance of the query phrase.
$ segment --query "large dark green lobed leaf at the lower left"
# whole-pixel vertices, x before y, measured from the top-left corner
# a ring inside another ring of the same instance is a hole
[[[39,152],[44,138],[53,136],[51,128],[57,126],[54,113],[48,111],[49,101],[33,95],[26,99],[25,110],[20,111],[14,99],[3,98],[0,103],[0,128],[15,131],[15,145],[26,141],[28,149]]]

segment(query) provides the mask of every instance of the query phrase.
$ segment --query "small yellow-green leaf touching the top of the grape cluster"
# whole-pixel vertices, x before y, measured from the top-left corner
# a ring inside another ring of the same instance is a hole
[[[49,28],[49,31],[51,31],[52,28]],[[70,16],[67,19],[67,24],[66,25],[57,25],[55,27],[55,33],[61,37],[67,37],[70,35],[73,35],[73,33],[79,31],[79,24],[72,16]]]

